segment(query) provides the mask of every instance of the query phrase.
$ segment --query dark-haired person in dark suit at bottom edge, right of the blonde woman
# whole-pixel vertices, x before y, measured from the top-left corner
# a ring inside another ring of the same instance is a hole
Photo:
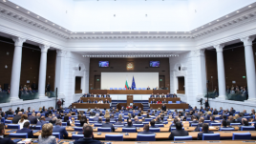
[[[74,144],[101,144],[100,141],[93,139],[93,128],[91,126],[86,126],[83,128],[83,138],[75,140]]]

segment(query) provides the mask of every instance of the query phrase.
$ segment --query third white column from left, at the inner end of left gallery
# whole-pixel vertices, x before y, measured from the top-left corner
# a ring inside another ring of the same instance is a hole
[[[65,80],[65,55],[67,51],[57,50],[56,56],[56,69],[55,69],[55,88],[57,88],[57,93],[59,97],[64,96],[64,80]],[[64,97],[63,97],[64,98]]]

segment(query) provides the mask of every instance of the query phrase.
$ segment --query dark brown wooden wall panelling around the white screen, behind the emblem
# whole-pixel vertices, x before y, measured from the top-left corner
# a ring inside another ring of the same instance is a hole
[[[98,61],[109,61],[109,68],[99,68]],[[160,61],[160,68],[150,68],[150,61]],[[134,70],[127,71],[127,62],[133,62]],[[91,58],[90,59],[90,89],[95,87],[95,75],[101,72],[159,72],[164,75],[165,87],[170,86],[169,58]]]

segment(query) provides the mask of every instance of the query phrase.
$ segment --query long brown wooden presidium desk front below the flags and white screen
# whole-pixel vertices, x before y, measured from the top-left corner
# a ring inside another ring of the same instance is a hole
[[[157,94],[170,93],[170,90],[90,90],[89,93],[98,94]]]

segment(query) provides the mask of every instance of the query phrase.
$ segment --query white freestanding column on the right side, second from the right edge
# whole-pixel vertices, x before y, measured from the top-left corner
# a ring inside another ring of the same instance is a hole
[[[217,51],[219,98],[225,99],[224,45],[213,46]]]

